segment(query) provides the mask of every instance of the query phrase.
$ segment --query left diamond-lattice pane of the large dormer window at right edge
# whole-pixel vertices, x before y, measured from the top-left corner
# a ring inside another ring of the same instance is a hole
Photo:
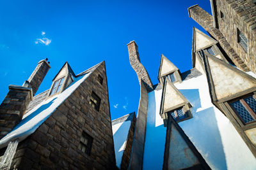
[[[236,101],[231,104],[245,123],[254,121],[250,113],[244,108],[243,104],[240,101]]]

